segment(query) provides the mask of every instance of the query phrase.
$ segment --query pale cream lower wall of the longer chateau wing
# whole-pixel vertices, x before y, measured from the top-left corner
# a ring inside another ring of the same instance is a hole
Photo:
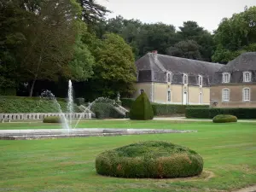
[[[171,83],[137,83],[136,98],[143,90],[150,102],[165,104],[184,104],[184,105],[207,105],[210,103],[210,88],[194,86],[188,84]],[[170,98],[168,100],[168,91]]]

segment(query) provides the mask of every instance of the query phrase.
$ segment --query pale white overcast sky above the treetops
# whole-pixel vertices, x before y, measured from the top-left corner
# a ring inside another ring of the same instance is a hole
[[[195,20],[209,32],[218,28],[224,17],[240,13],[247,5],[256,6],[256,0],[96,0],[111,10],[107,18],[122,15],[146,23],[163,22],[183,26],[183,21]]]

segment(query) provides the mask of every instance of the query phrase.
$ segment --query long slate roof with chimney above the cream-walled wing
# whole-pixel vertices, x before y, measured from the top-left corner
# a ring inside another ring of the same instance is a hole
[[[166,73],[172,73],[172,84],[183,84],[183,73],[188,74],[189,84],[197,85],[198,76],[203,77],[203,86],[212,84],[214,73],[223,65],[196,61],[169,55],[148,53],[136,61],[139,83],[166,83]]]

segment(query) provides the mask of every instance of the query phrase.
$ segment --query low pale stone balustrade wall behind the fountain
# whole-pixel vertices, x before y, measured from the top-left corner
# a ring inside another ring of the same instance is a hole
[[[64,113],[67,119],[91,119],[91,113]],[[0,113],[3,120],[24,120],[24,119],[44,119],[49,116],[61,116],[61,113]]]

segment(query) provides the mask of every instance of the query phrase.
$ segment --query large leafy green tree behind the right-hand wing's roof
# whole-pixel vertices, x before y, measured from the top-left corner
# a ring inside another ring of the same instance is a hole
[[[214,34],[217,49],[212,61],[226,63],[246,51],[256,51],[256,7],[224,18]]]

